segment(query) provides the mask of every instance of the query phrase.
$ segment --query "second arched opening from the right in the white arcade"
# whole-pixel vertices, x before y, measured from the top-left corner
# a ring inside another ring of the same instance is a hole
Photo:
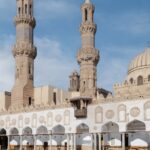
[[[108,122],[102,126],[102,147],[104,149],[120,149],[121,148],[121,134],[119,133],[119,126],[114,122]]]

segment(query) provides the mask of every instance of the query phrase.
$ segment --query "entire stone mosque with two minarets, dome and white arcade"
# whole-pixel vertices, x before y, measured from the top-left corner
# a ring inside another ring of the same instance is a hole
[[[129,65],[114,94],[97,87],[95,6],[81,6],[80,73],[72,72],[68,91],[34,87],[33,0],[16,0],[15,83],[0,92],[2,150],[149,150],[150,48]],[[53,65],[53,64],[51,64]]]

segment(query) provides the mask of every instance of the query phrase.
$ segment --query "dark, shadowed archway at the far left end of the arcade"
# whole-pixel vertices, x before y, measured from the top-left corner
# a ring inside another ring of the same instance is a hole
[[[8,137],[6,135],[6,130],[5,129],[0,129],[0,146],[1,146],[1,149],[7,150]]]

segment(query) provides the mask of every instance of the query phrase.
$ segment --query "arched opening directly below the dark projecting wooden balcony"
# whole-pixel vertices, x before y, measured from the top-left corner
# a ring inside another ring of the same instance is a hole
[[[91,149],[91,135],[89,134],[88,125],[81,123],[76,128],[76,149],[90,150]]]

